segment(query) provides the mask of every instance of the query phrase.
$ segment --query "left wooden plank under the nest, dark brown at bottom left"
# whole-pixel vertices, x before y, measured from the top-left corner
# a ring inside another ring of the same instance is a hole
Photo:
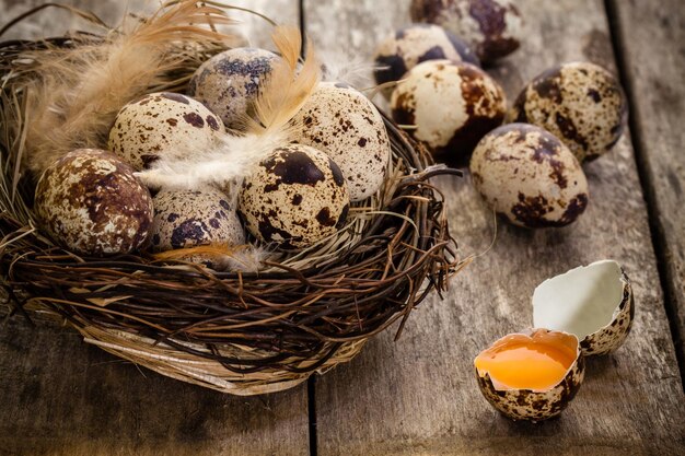
[[[42,2],[0,0],[0,22]],[[78,3],[116,23],[128,2]],[[297,0],[232,3],[299,21]],[[243,17],[252,42],[266,45],[269,27]],[[14,36],[60,34],[70,23],[46,11],[31,24]],[[68,328],[30,327],[21,316],[0,326],[0,455],[309,453],[305,385],[264,397],[222,395],[139,370]]]

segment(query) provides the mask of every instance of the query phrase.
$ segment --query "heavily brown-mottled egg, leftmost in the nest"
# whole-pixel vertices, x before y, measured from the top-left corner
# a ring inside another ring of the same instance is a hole
[[[136,250],[152,224],[152,198],[133,169],[96,149],[69,152],[48,166],[34,210],[60,245],[93,256]]]

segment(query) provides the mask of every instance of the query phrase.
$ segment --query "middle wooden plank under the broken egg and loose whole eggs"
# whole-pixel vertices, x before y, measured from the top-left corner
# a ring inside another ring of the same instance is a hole
[[[306,0],[305,24],[322,50],[349,46],[370,58],[380,38],[409,21],[408,3]],[[519,3],[527,24],[522,47],[491,70],[510,100],[561,61],[615,70],[600,0]],[[390,330],[350,364],[317,378],[320,455],[682,454],[683,393],[629,137],[585,172],[591,202],[579,222],[536,232],[500,222],[492,250],[451,282],[444,301],[423,303],[399,341]],[[492,215],[471,179],[439,184],[462,255],[486,250]],[[618,260],[634,281],[637,314],[626,344],[590,360],[578,397],[559,419],[533,425],[502,418],[478,391],[473,358],[532,325],[536,284],[602,258]]]

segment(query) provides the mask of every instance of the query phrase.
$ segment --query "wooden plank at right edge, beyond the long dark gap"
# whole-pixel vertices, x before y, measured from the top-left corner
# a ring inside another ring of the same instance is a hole
[[[654,215],[681,370],[685,369],[685,14],[677,0],[611,1],[618,25],[647,200]],[[677,46],[676,46],[677,45]],[[685,372],[681,372],[685,375]]]

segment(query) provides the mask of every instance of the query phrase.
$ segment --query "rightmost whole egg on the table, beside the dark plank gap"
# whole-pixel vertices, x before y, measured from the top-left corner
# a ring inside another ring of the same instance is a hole
[[[626,96],[616,78],[594,63],[570,62],[527,84],[508,118],[556,135],[582,163],[614,147],[627,115]]]

